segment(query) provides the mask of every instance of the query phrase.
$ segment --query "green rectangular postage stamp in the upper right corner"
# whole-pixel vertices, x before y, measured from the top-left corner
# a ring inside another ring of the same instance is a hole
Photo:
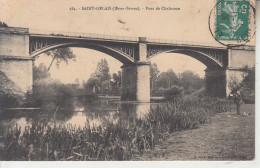
[[[217,0],[215,38],[223,41],[248,41],[249,0]]]

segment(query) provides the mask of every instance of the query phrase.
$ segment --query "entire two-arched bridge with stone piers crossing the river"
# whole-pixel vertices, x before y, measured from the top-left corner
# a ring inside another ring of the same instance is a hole
[[[0,28],[0,71],[26,92],[32,88],[34,58],[59,47],[83,47],[106,53],[123,63],[122,100],[150,101],[149,59],[161,53],[181,53],[207,66],[206,89],[225,97],[231,76],[242,79],[255,65],[253,46],[227,48],[171,40],[132,38],[28,28]]]

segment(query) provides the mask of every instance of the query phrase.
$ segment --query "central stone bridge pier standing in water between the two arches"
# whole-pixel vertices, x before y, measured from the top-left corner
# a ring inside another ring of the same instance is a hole
[[[150,63],[137,62],[121,68],[121,100],[150,102]]]

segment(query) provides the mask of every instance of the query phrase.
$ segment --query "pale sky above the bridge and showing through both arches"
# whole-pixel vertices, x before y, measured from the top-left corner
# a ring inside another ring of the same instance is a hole
[[[134,3],[133,3],[134,2]],[[119,36],[148,37],[179,41],[218,43],[208,28],[210,10],[214,1],[209,0],[0,0],[0,21],[12,27],[30,29],[97,33]],[[140,11],[93,11],[70,10],[82,7],[140,7]],[[146,10],[146,7],[174,7],[180,10]],[[118,22],[125,22],[122,24]],[[97,62],[106,58],[111,73],[120,70],[122,64],[101,52],[73,48],[76,62],[54,65],[50,73],[53,78],[70,83],[75,79],[87,80],[95,71]],[[44,54],[35,61],[50,63]],[[159,70],[172,68],[176,73],[192,70],[204,76],[205,66],[197,60],[181,54],[159,54],[150,60]]]

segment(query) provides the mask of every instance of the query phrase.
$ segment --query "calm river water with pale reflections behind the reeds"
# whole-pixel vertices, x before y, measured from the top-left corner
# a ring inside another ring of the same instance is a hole
[[[41,122],[47,125],[71,124],[82,127],[86,123],[90,126],[100,126],[107,123],[117,123],[120,120],[133,122],[144,119],[150,108],[158,103],[121,102],[118,99],[97,99],[73,97],[66,100],[63,105],[57,106],[54,102],[46,100],[41,109],[12,110],[7,109],[0,113],[0,129],[25,126]]]

